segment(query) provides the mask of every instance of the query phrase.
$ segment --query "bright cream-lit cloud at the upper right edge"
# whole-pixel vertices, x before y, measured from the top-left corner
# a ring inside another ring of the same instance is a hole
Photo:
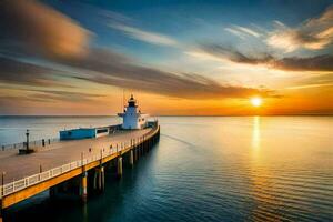
[[[289,28],[280,21],[275,23],[276,29],[269,34],[266,43],[286,52],[301,48],[320,50],[333,42],[333,7],[296,28]]]

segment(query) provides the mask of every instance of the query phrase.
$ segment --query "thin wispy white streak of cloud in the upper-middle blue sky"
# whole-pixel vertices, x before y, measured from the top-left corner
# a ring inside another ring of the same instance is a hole
[[[129,27],[129,26],[119,24],[119,23],[110,23],[109,27],[120,30],[133,39],[144,41],[148,43],[159,44],[159,46],[176,46],[178,44],[178,42],[170,37],[167,37],[167,36],[160,34],[160,33],[155,33],[155,32],[143,31],[143,30],[134,28],[134,27]]]

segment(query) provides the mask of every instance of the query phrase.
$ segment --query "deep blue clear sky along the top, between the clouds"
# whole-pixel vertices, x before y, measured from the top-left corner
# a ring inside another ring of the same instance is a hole
[[[108,28],[110,22],[123,22],[138,29],[158,32],[181,41],[216,40],[235,42],[223,34],[230,26],[258,26],[273,29],[273,21],[299,26],[320,14],[332,1],[46,1],[94,32],[100,46],[118,46],[150,53],[150,46]],[[181,3],[180,3],[181,2]],[[110,13],[110,14],[108,14]],[[118,18],[117,18],[118,17]],[[123,18],[122,18],[123,17]],[[223,34],[223,37],[222,37]],[[168,52],[168,50],[167,50]]]

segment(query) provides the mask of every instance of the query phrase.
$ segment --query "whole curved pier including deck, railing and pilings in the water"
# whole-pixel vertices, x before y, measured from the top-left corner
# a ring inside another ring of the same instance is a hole
[[[3,210],[47,190],[53,196],[64,185],[71,186],[82,202],[88,200],[89,185],[103,191],[108,165],[115,165],[121,176],[124,160],[133,165],[159,141],[160,125],[150,123],[142,130],[50,143],[31,154],[19,155],[17,149],[0,151],[0,222]]]

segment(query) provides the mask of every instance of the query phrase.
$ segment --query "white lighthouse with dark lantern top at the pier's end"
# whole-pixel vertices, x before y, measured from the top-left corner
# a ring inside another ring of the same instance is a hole
[[[118,115],[123,119],[122,129],[137,130],[147,127],[148,114],[142,114],[140,110],[138,111],[137,100],[133,98],[133,94],[129,99],[123,113],[118,113]]]

